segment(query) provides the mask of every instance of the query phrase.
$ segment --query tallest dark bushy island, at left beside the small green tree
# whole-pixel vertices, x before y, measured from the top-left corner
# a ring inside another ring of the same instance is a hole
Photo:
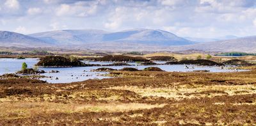
[[[74,58],[64,58],[62,56],[45,56],[36,63],[40,67],[85,67],[86,64]]]

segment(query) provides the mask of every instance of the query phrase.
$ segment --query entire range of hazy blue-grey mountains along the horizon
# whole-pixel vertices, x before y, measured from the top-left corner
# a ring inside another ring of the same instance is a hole
[[[0,31],[1,47],[50,47],[105,51],[239,51],[256,52],[256,36],[225,36],[214,42],[194,42],[159,29],[130,29],[108,32],[97,29],[60,30],[22,35]]]

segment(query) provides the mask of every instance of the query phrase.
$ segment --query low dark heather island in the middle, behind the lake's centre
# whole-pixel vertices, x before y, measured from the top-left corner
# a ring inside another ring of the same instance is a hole
[[[132,57],[132,56],[124,56],[124,55],[108,55],[102,58],[99,58],[99,61],[127,61],[127,62],[136,62],[136,61],[149,61],[148,59],[141,57]]]

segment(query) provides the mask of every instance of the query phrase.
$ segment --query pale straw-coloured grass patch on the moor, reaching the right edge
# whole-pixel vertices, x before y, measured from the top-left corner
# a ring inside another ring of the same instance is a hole
[[[184,98],[216,97],[221,95],[248,95],[256,93],[256,84],[247,85],[213,85],[213,86],[177,86],[173,88],[140,88],[138,86],[115,86],[109,89],[129,90],[142,97],[164,97],[181,100]]]

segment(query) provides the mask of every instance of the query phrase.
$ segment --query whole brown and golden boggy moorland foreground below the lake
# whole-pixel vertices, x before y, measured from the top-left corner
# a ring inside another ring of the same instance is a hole
[[[0,79],[1,125],[255,125],[256,69],[113,71],[79,83]]]

